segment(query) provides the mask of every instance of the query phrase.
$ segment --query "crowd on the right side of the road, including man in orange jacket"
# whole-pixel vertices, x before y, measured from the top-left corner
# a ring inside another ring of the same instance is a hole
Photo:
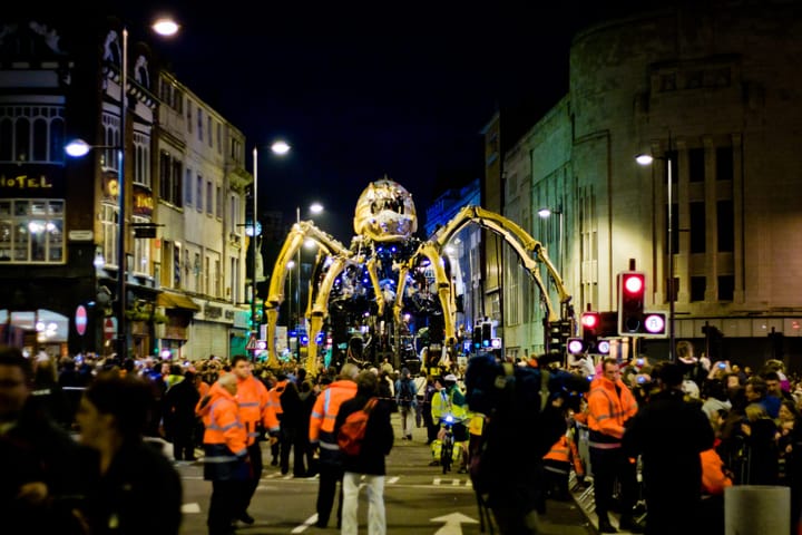
[[[599,532],[723,534],[726,487],[783,485],[796,533],[802,383],[779,360],[755,372],[697,358],[687,341],[678,342],[676,357],[604,359],[571,415],[588,432],[589,466],[576,474],[593,475]],[[613,509],[620,514],[617,527]]]

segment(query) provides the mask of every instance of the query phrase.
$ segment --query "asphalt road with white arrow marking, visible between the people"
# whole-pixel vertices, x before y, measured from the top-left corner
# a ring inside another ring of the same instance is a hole
[[[388,534],[459,535],[479,534],[480,518],[470,478],[466,474],[443,475],[439,467],[428,466],[431,453],[426,445],[424,429],[414,429],[411,441],[401,440],[398,415],[393,415],[395,445],[388,457],[384,488]],[[268,448],[264,458],[270,463]],[[182,535],[206,533],[206,514],[212,490],[203,480],[203,467],[178,465],[184,480],[184,522]],[[292,474],[292,469],[291,469]],[[317,479],[282,476],[277,467],[266,466],[262,483],[248,512],[256,519],[253,526],[241,524],[237,533],[323,534],[336,533],[335,512],[326,529],[315,527]],[[366,533],[368,503],[360,494],[360,532]],[[486,533],[489,533],[486,531]],[[498,533],[498,531],[496,531]],[[549,504],[544,518],[544,533],[585,535],[594,533],[575,504]]]

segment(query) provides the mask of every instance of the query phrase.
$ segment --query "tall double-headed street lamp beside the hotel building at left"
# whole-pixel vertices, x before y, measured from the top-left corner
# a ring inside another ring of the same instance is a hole
[[[156,33],[163,37],[170,37],[178,32],[178,25],[169,19],[158,19],[150,27]],[[128,115],[128,28],[123,26],[120,51],[120,123],[119,144],[114,146],[89,145],[81,139],[76,139],[65,147],[68,156],[86,156],[90,149],[116,149],[117,150],[117,356],[125,359],[127,351],[126,332],[126,266],[125,266],[125,234],[126,234],[126,203],[125,203],[125,162],[126,162],[126,119]]]

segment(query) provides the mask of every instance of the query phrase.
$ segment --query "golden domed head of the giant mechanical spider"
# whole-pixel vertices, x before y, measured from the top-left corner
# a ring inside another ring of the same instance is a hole
[[[356,202],[354,231],[374,242],[400,242],[418,230],[412,195],[388,178],[371,183]]]

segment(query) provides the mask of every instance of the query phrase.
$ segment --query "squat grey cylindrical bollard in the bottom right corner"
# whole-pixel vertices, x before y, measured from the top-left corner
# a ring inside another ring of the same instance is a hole
[[[791,489],[735,485],[724,489],[725,535],[791,533]]]

